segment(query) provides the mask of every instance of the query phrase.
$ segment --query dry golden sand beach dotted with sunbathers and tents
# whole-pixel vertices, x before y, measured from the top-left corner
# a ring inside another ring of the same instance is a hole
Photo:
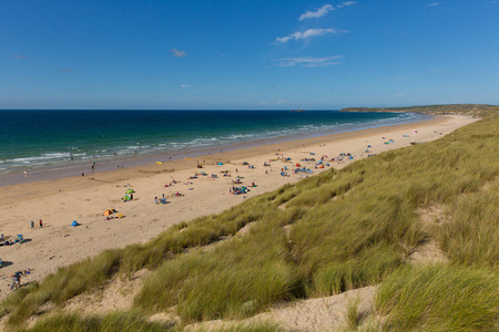
[[[415,141],[422,143],[437,139],[475,121],[459,115],[437,116],[425,122],[120,168],[84,177],[4,186],[0,191],[0,232],[11,240],[18,234],[23,235],[27,241],[0,248],[0,258],[3,260],[0,278],[31,268],[34,272],[23,278],[22,282],[41,280],[59,267],[94,256],[104,249],[145,242],[172,225],[221,212],[245,198],[301,180],[306,175],[293,174],[296,163],[318,174],[330,167],[342,168],[368,155],[410,146],[414,129],[417,131]],[[393,143],[386,144],[389,139]],[[340,154],[350,154],[354,158],[338,160]],[[304,158],[319,160],[322,156],[324,163],[330,166],[315,168],[316,162],[302,162]],[[286,162],[286,158],[291,158],[291,162]],[[254,165],[254,168],[244,163]],[[264,166],[264,163],[271,166]],[[197,168],[197,164],[203,168]],[[281,175],[284,167],[288,168],[289,176]],[[201,172],[207,175],[191,179]],[[230,176],[223,176],[223,172]],[[212,177],[212,174],[217,177]],[[251,191],[245,195],[231,194],[232,181],[237,176],[244,177],[244,186],[251,187],[255,183],[256,187],[249,188]],[[123,203],[121,198],[130,188],[135,191],[133,200]],[[183,196],[176,197],[173,195],[175,193]],[[155,197],[161,198],[163,195],[167,204],[155,204]],[[106,220],[102,216],[106,209],[115,209],[124,217]],[[39,219],[43,220],[42,228],[39,227]],[[34,221],[33,229],[31,220]],[[81,226],[71,227],[73,220]],[[9,278],[1,280],[0,297],[9,293]]]

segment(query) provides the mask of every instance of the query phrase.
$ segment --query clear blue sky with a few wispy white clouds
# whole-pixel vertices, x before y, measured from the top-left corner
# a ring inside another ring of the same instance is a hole
[[[0,108],[499,104],[499,0],[0,0]]]

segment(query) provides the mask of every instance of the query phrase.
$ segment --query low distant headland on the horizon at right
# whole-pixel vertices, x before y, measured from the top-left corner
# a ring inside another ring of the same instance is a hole
[[[400,107],[347,107],[342,112],[417,112],[432,115],[467,114],[472,116],[487,116],[499,112],[499,106],[487,104],[447,104]]]

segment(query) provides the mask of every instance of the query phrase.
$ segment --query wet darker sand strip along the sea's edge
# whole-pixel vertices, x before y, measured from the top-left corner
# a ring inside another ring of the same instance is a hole
[[[136,167],[144,166],[147,164],[155,164],[156,162],[166,163],[171,160],[179,160],[184,158],[197,158],[197,157],[206,157],[207,155],[217,154],[221,151],[233,152],[238,149],[246,149],[249,147],[258,147],[271,144],[285,144],[292,141],[315,138],[315,137],[325,137],[337,134],[345,134],[350,132],[361,132],[371,128],[381,128],[381,127],[390,127],[397,125],[406,125],[406,124],[415,124],[417,125],[420,122],[432,120],[432,117],[425,120],[417,120],[413,122],[405,122],[398,124],[389,124],[389,125],[370,125],[366,127],[359,128],[339,128],[332,131],[323,131],[323,132],[314,132],[308,134],[299,134],[293,136],[281,136],[281,137],[272,137],[272,138],[262,138],[256,141],[247,141],[247,142],[238,142],[233,144],[224,144],[217,146],[211,146],[208,148],[198,148],[194,147],[192,149],[181,149],[181,151],[165,151],[161,153],[151,153],[151,154],[138,154],[131,156],[121,156],[115,158],[95,158],[88,160],[79,160],[74,162],[70,165],[51,165],[45,167],[40,167],[32,169],[29,175],[23,174],[21,170],[12,170],[7,174],[0,175],[0,187],[10,186],[10,185],[19,185],[24,183],[34,183],[41,180],[53,180],[59,178],[74,177],[84,174],[85,176],[92,176],[98,173],[116,170],[121,167]],[[95,168],[91,168],[90,165],[95,162]]]

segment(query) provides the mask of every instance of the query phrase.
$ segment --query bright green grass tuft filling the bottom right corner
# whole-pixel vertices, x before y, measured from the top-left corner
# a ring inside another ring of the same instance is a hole
[[[376,299],[386,331],[493,331],[499,274],[472,268],[405,268],[387,278]]]

